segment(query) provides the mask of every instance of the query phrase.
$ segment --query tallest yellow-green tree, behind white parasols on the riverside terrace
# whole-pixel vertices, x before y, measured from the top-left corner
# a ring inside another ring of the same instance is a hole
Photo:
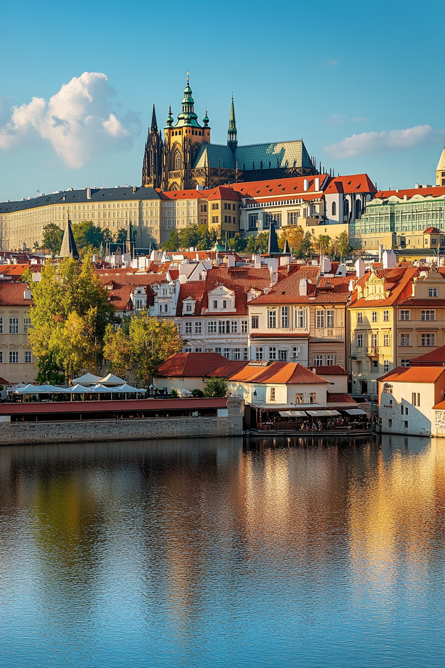
[[[115,321],[115,315],[91,257],[83,263],[63,258],[57,267],[48,262],[41,271],[41,281],[31,281],[29,287],[33,305],[28,341],[34,355],[43,360],[42,373],[46,373],[45,365],[55,362],[69,378],[77,365],[73,359],[79,356],[81,366],[94,371],[101,361],[105,328]],[[75,348],[72,352],[71,345]]]

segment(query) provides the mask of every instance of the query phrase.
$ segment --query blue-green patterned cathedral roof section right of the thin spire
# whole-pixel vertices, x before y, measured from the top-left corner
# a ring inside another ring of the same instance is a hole
[[[292,142],[270,142],[269,144],[251,144],[250,146],[238,146],[235,149],[235,159],[238,160],[238,168],[243,169],[246,164],[246,170],[252,169],[252,162],[255,168],[272,169],[277,166],[277,158],[280,167],[312,167],[312,162],[302,140]]]

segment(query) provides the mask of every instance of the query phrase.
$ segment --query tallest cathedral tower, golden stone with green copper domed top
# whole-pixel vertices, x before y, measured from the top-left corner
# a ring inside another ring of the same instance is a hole
[[[199,146],[203,142],[210,142],[207,113],[203,120],[204,125],[199,125],[192,93],[187,72],[182,111],[173,125],[170,108],[167,125],[164,128],[163,190],[185,190],[196,187],[191,175],[193,162]]]

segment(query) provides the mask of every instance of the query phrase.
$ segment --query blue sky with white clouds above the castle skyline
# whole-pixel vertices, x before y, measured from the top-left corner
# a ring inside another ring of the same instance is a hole
[[[2,3],[0,200],[140,185],[187,68],[225,143],[304,138],[378,187],[434,184],[445,140],[443,0]]]

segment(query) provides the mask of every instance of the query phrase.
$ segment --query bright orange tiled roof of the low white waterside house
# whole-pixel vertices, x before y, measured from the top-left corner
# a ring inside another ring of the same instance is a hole
[[[329,383],[298,362],[272,362],[267,367],[247,364],[238,373],[230,376],[229,380],[245,383],[278,383],[280,385],[326,385]]]

